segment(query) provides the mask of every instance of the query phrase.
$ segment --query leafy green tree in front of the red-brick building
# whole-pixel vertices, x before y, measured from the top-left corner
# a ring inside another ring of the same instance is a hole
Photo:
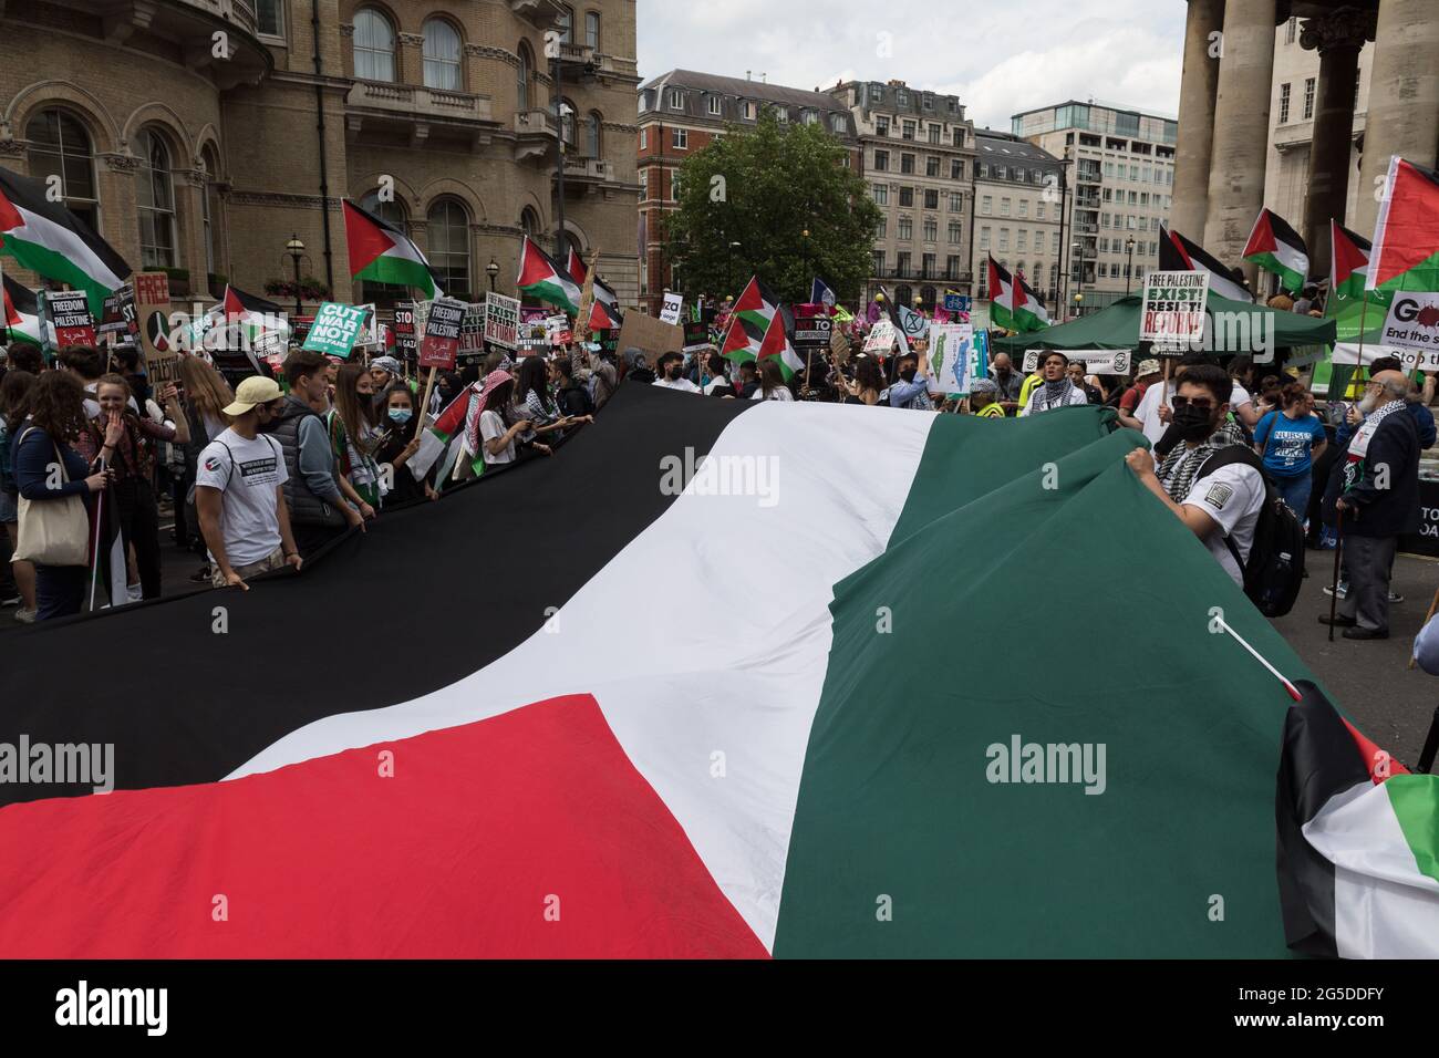
[[[695,151],[679,170],[666,232],[684,288],[740,297],[758,275],[784,301],[803,302],[822,275],[840,299],[858,299],[881,213],[846,154],[823,127],[780,124],[768,107],[754,128],[730,125]]]

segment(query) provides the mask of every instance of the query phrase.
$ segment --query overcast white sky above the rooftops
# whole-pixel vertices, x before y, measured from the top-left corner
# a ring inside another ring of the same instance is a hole
[[[1102,99],[1174,117],[1183,0],[639,0],[639,72],[954,94],[976,127]]]

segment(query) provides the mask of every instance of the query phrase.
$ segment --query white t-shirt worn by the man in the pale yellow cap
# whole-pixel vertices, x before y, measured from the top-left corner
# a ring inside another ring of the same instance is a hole
[[[288,478],[279,442],[265,433],[246,440],[227,429],[200,452],[194,484],[222,492],[220,534],[232,569],[256,563],[281,546],[275,487]]]

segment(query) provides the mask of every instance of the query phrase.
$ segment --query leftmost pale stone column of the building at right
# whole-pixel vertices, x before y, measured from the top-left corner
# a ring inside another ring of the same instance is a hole
[[[1209,161],[1219,89],[1219,35],[1225,0],[1189,0],[1184,23],[1184,78],[1179,95],[1179,144],[1174,151],[1174,207],[1170,223],[1190,239],[1204,236]]]

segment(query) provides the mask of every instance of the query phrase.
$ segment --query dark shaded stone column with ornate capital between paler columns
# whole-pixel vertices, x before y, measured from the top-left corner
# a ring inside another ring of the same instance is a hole
[[[1299,35],[1301,48],[1320,53],[1308,194],[1299,227],[1299,236],[1309,248],[1309,276],[1330,273],[1330,219],[1344,223],[1354,141],[1358,52],[1366,40],[1373,39],[1374,13],[1363,7],[1337,7],[1317,19],[1305,19]]]

